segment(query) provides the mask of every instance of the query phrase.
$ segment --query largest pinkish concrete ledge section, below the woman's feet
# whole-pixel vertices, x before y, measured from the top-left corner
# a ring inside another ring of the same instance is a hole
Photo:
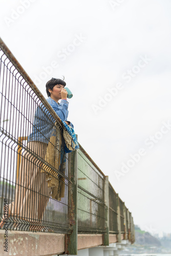
[[[65,234],[9,231],[8,252],[5,247],[5,230],[0,230],[0,255],[51,256],[65,252]]]

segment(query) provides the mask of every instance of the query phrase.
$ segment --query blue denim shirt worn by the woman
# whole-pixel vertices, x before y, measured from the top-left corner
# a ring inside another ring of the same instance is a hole
[[[69,113],[68,112],[69,102],[65,99],[62,99],[60,101],[60,104],[58,104],[51,97],[49,97],[47,101],[52,106],[53,110],[56,112],[58,117],[62,121],[67,121],[67,117]],[[74,128],[74,125],[70,121],[68,122],[70,123],[70,126]],[[50,137],[52,136],[54,123],[55,123],[55,119],[47,110],[46,106],[43,103],[40,103],[34,115],[33,131],[28,136],[28,142],[40,141],[40,142],[49,143]]]

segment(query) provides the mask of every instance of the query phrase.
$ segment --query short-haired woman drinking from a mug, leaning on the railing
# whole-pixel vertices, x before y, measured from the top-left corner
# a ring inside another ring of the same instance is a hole
[[[49,96],[47,101],[58,117],[73,127],[73,124],[67,121],[69,102],[65,86],[66,82],[61,79],[49,80],[46,84],[46,92]],[[19,217],[31,223],[42,220],[52,193],[51,186],[47,183],[47,173],[42,172],[42,166],[47,159],[47,148],[52,138],[54,122],[52,115],[40,103],[35,112],[33,131],[28,137],[27,150],[24,151],[20,164],[15,201],[8,205],[8,217]],[[56,168],[61,164],[60,159],[58,162]],[[4,224],[3,217],[0,227],[2,228]],[[35,230],[34,226],[31,230]]]

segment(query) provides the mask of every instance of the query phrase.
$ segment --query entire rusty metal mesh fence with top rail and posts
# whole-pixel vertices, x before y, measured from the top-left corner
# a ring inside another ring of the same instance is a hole
[[[134,242],[131,212],[81,145],[64,152],[60,118],[2,39],[0,46],[0,212],[5,219],[8,209],[8,229]]]

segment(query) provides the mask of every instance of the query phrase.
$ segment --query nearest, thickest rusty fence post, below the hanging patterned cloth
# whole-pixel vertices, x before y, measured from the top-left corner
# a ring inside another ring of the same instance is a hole
[[[77,135],[76,135],[77,137]],[[78,138],[77,138],[78,139]],[[78,166],[78,152],[75,150],[71,154],[71,182],[72,188],[69,191],[70,193],[70,226],[72,227],[71,234],[66,236],[66,253],[77,255],[77,166]]]

